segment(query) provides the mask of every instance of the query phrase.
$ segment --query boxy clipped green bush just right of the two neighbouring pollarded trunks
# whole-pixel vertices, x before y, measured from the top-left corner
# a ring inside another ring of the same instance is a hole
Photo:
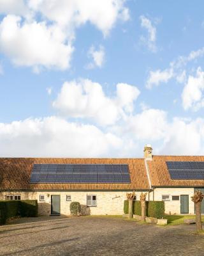
[[[149,201],[148,215],[154,218],[162,218],[164,216],[164,202],[163,201]]]

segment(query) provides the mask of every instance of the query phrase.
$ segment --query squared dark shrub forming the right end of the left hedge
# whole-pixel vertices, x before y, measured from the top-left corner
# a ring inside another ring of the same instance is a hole
[[[38,200],[20,200],[20,216],[38,217]]]

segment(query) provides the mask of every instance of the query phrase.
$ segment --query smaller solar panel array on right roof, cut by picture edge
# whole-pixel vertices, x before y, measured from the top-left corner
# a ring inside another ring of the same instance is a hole
[[[173,180],[204,179],[204,162],[167,161],[166,165]]]

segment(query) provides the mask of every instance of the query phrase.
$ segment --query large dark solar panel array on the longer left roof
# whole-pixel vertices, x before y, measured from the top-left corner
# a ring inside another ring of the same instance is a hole
[[[130,183],[128,164],[33,164],[31,183]]]

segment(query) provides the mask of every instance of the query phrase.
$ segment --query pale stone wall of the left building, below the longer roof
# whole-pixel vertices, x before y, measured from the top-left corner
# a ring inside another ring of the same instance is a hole
[[[130,192],[128,192],[130,193]],[[21,199],[37,199],[39,215],[49,215],[51,213],[51,195],[61,196],[61,214],[69,215],[69,205],[77,201],[81,205],[87,205],[87,195],[97,196],[97,206],[88,207],[87,211],[94,215],[122,215],[124,213],[124,200],[126,200],[126,191],[13,191],[1,192],[0,200],[4,200],[6,195],[21,195]],[[45,195],[45,201],[40,201],[40,195]],[[71,201],[66,201],[66,195],[71,195]],[[140,192],[136,192],[137,199],[140,198]]]

